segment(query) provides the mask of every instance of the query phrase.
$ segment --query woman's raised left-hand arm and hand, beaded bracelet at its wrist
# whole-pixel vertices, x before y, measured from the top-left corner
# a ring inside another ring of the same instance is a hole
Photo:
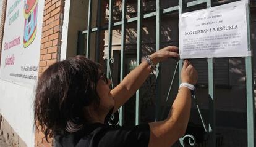
[[[177,47],[168,46],[151,54],[150,57],[153,64],[156,65],[167,58],[178,58],[178,52],[179,50]],[[117,109],[124,105],[124,103],[126,103],[126,101],[129,100],[132,95],[134,95],[143,82],[145,82],[151,71],[152,69],[150,68],[150,65],[147,62],[142,62],[139,66],[137,66],[137,68],[130,71],[130,73],[124,77],[119,85],[111,90],[110,93],[115,101],[113,112],[116,112]]]

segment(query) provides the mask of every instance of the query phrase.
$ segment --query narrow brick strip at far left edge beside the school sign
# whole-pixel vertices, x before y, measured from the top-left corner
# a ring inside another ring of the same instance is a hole
[[[4,22],[6,18],[6,5],[7,0],[2,1],[2,15],[1,17],[1,24],[0,24],[0,62],[1,62],[1,54],[2,54],[2,38],[4,36]]]

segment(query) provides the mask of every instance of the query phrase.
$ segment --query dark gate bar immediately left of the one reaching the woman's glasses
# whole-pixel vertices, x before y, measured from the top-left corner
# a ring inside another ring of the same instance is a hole
[[[101,0],[98,0],[97,34],[96,34],[96,62],[100,62],[100,31],[101,31]]]

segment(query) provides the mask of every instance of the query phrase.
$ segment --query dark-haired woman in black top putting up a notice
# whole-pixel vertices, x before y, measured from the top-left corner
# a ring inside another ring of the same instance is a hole
[[[197,71],[185,60],[182,84],[164,121],[133,128],[105,124],[108,114],[129,100],[155,65],[178,58],[177,47],[155,52],[110,90],[111,81],[99,65],[77,56],[54,63],[41,75],[35,95],[35,124],[55,146],[171,146],[184,135],[191,105],[191,87]],[[189,85],[189,86],[188,86]]]

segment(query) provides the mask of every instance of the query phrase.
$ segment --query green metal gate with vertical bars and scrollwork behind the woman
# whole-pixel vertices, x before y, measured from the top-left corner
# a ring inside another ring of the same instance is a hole
[[[124,77],[124,58],[125,58],[125,47],[126,47],[126,25],[131,22],[137,22],[137,57],[136,57],[136,65],[138,66],[139,63],[142,60],[142,53],[141,53],[141,47],[142,47],[142,20],[147,18],[155,18],[156,22],[156,51],[160,50],[161,45],[161,17],[166,14],[172,14],[177,13],[182,14],[184,12],[184,7],[194,7],[194,6],[202,6],[202,8],[211,7],[212,1],[211,0],[197,0],[197,1],[189,1],[189,0],[179,0],[179,4],[174,7],[168,7],[166,9],[161,8],[161,1],[156,0],[156,7],[154,12],[150,12],[148,14],[142,13],[142,0],[137,1],[137,17],[133,17],[130,19],[126,18],[127,15],[127,1],[122,0],[122,19],[119,22],[113,22],[113,0],[109,0],[109,20],[108,20],[108,26],[100,26],[101,24],[101,0],[98,0],[98,15],[97,15],[97,24],[98,26],[96,28],[91,27],[92,23],[92,0],[88,0],[88,30],[80,31],[80,38],[83,38],[82,36],[86,36],[87,39],[87,45],[86,45],[86,52],[85,55],[90,57],[90,40],[91,40],[91,34],[93,32],[96,32],[96,42],[100,42],[100,31],[101,30],[108,30],[108,56],[106,59],[106,73],[107,76],[112,78],[111,76],[111,62],[113,62],[113,58],[111,58],[112,53],[112,36],[113,36],[113,27],[114,26],[121,26],[121,59],[120,59],[120,81],[122,81]],[[247,28],[248,28],[248,42],[249,46],[248,49],[251,50],[251,44],[250,44],[250,1],[248,9],[248,15],[247,15]],[[83,39],[80,39],[82,41]],[[82,51],[81,51],[82,50]],[[81,49],[79,54],[83,52],[83,47]],[[100,45],[96,44],[96,62],[100,60],[99,57],[100,52]],[[253,66],[252,66],[252,57],[244,57],[245,58],[245,66],[246,66],[246,93],[247,93],[247,146],[254,147],[255,146],[255,123],[254,123],[254,83],[253,83]],[[200,109],[197,105],[198,113],[200,115],[200,118],[202,119],[202,124],[205,129],[205,132],[208,135],[208,145],[207,146],[216,146],[216,128],[215,128],[215,82],[214,79],[214,60],[215,58],[208,58],[208,98],[209,98],[209,122],[208,124],[205,124],[203,121],[203,116],[200,112]],[[155,92],[155,103],[156,103],[156,113],[155,113],[155,120],[158,121],[163,117],[162,114],[160,114],[160,89],[161,89],[161,63],[157,65],[158,70],[155,73],[155,81],[156,81],[156,92]],[[181,71],[182,69],[182,60],[179,60],[176,66],[176,70],[174,70],[173,79],[171,80],[171,85],[169,86],[169,92],[168,97],[166,98],[166,101],[169,99],[170,92],[174,89],[174,80],[175,76],[177,76],[177,72]],[[177,85],[176,85],[177,86]],[[139,105],[139,93],[140,90],[136,92],[136,98],[135,98],[135,124],[140,123],[140,105]],[[195,97],[194,97],[195,99]],[[196,100],[196,99],[195,99]],[[123,108],[119,109],[119,125],[124,124],[124,114],[123,114]],[[189,144],[191,146],[195,146],[195,137],[192,135],[186,135],[183,138],[180,139],[180,143],[182,146],[184,146],[184,139],[189,138]]]

